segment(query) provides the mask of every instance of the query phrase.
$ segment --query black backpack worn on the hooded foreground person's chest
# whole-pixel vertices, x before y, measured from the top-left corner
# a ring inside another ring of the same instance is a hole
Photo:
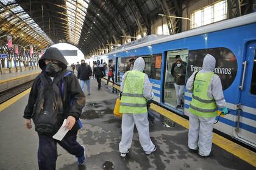
[[[69,73],[71,72],[63,70],[52,82],[49,82],[43,73],[39,75],[41,87],[38,91],[32,118],[35,124],[35,131],[40,134],[54,135],[62,126],[64,121],[63,78]],[[59,81],[61,81],[60,88],[57,86]]]

